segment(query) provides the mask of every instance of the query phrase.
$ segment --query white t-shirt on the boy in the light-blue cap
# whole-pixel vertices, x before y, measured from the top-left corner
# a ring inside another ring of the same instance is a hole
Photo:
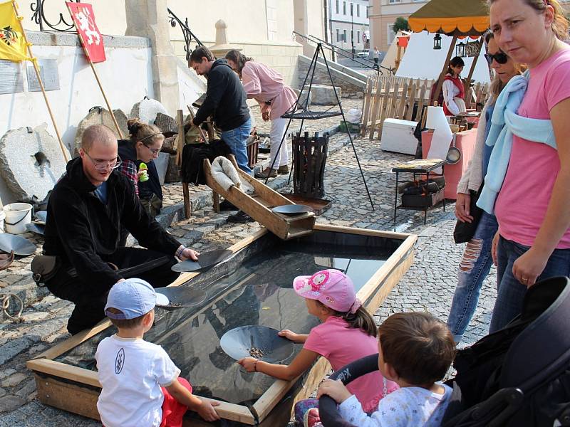
[[[95,352],[103,390],[97,409],[105,427],[154,427],[162,421],[164,395],[180,369],[160,345],[117,335]]]

